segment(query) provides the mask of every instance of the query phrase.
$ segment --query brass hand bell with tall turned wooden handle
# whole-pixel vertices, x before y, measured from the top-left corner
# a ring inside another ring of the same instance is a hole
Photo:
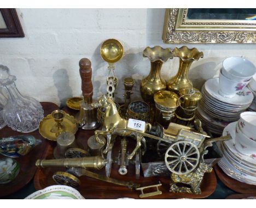
[[[97,108],[92,108],[93,86],[91,82],[92,69],[88,58],[82,58],[79,61],[79,72],[82,79],[82,92],[84,101],[81,102],[80,111],[77,114],[77,121],[80,129],[97,129],[100,124],[97,122]]]

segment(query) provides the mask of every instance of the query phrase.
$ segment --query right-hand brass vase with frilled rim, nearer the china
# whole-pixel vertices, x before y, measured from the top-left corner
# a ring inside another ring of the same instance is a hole
[[[199,60],[203,57],[203,52],[199,52],[196,48],[174,48],[172,51],[173,57],[179,57],[179,70],[176,76],[167,81],[167,89],[174,93],[179,93],[179,90],[185,87],[193,87],[192,82],[188,78],[188,72],[194,60]]]

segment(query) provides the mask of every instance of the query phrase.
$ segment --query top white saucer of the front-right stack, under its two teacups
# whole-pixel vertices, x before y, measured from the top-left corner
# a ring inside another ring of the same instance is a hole
[[[238,160],[245,162],[245,164],[248,164],[248,166],[256,168],[256,155],[251,155],[251,156],[242,155],[235,148],[236,123],[237,123],[237,121],[230,123],[223,130],[222,136],[226,136],[226,135],[230,134],[230,136],[232,137],[231,140],[223,142],[224,146],[226,146],[226,148],[228,148],[229,152],[232,152],[232,155],[234,155]]]

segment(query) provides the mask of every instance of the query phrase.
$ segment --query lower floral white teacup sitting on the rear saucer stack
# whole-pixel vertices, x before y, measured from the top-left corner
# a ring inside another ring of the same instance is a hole
[[[225,77],[222,73],[222,70],[220,70],[218,93],[223,97],[231,98],[234,97],[238,91],[241,91],[243,88],[245,88],[248,83],[249,81],[242,82],[236,81],[234,79],[229,79],[228,77]]]

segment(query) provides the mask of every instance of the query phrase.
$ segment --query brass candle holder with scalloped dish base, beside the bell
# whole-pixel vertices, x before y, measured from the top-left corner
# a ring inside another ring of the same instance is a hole
[[[53,141],[56,141],[63,131],[75,134],[77,130],[78,125],[75,118],[61,110],[56,110],[47,115],[39,124],[39,133],[45,139]]]

